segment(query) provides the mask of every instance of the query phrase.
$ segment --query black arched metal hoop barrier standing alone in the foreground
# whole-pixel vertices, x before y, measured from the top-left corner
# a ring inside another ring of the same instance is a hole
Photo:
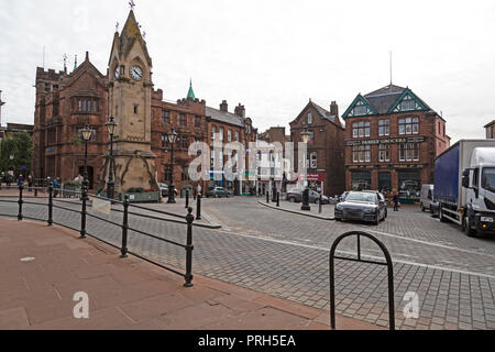
[[[344,256],[336,256],[336,250],[339,243],[351,235],[358,237],[358,258],[354,257],[344,257]],[[384,262],[375,262],[375,261],[367,261],[363,260],[361,257],[361,237],[367,238],[375,242],[378,248],[382,250],[383,254],[385,255],[385,263]],[[336,272],[334,272],[334,260],[341,260],[341,261],[352,261],[352,262],[361,262],[361,263],[369,263],[369,264],[377,264],[377,265],[386,265],[387,266],[387,274],[388,274],[388,319],[389,319],[389,329],[395,330],[395,305],[394,305],[394,266],[392,264],[392,256],[391,253],[388,253],[387,248],[385,244],[383,244],[378,239],[376,239],[374,235],[363,232],[363,231],[350,231],[346,232],[333,242],[332,248],[330,250],[330,257],[329,257],[329,266],[330,266],[330,326],[332,329],[336,329]]]

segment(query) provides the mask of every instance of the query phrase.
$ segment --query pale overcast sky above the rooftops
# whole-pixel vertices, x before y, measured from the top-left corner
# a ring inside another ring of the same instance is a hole
[[[342,114],[359,92],[413,89],[447,120],[452,141],[484,138],[495,119],[495,1],[134,0],[155,88],[229,111],[260,131],[286,125],[311,98]],[[0,0],[2,125],[33,123],[36,66],[63,69],[85,52],[107,72],[128,0]],[[286,131],[288,134],[288,130]]]

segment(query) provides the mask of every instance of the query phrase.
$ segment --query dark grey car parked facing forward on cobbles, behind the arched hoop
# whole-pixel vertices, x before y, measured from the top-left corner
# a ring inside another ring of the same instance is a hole
[[[350,191],[345,200],[336,206],[334,217],[337,221],[361,220],[378,224],[387,218],[385,197],[374,190]]]

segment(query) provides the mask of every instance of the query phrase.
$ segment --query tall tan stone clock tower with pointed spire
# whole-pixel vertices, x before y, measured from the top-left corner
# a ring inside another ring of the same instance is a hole
[[[113,35],[108,65],[109,113],[118,123],[113,136],[116,190],[158,190],[156,156],[151,151],[152,59],[133,10],[122,32]],[[109,157],[103,182],[108,173]]]

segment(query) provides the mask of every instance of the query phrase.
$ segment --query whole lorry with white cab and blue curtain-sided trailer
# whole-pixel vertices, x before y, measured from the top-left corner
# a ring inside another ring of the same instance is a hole
[[[495,233],[495,140],[461,140],[439,155],[433,195],[440,221]]]

